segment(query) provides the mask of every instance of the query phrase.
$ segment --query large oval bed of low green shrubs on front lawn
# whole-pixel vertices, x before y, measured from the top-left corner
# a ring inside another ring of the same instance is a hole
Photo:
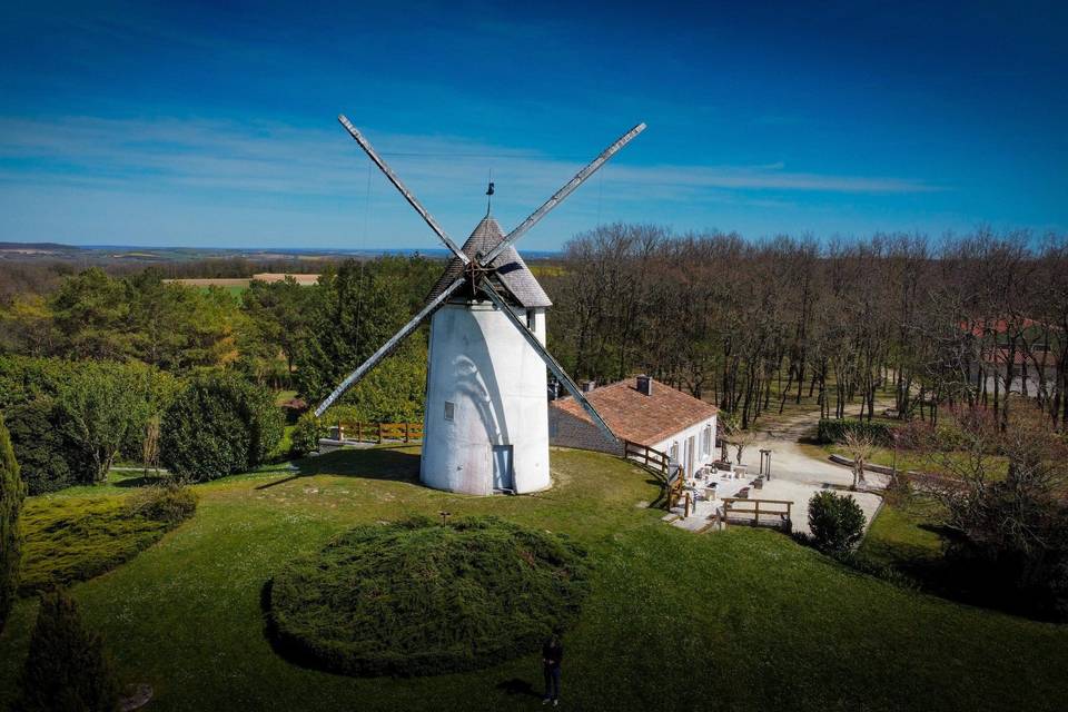
[[[578,614],[584,552],[495,517],[354,528],[269,587],[280,652],[349,675],[432,675],[538,650]]]

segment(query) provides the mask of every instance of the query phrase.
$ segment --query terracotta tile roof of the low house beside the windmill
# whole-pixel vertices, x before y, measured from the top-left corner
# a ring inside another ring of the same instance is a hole
[[[655,445],[719,412],[714,405],[659,380],[653,380],[651,396],[643,395],[636,386],[635,379],[631,378],[600,386],[585,395],[616,436],[642,445]],[[593,423],[571,396],[548,405]]]

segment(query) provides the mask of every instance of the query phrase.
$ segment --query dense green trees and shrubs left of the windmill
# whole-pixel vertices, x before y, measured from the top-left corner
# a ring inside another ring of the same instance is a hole
[[[235,295],[157,269],[89,268],[16,297],[0,307],[0,413],[22,479],[31,494],[92,484],[120,461],[205,479],[287,456],[275,452],[275,393],[328,394],[418,308],[438,269],[382,257],[328,267],[315,286],[254,281]],[[347,407],[417,419],[425,377],[417,334]]]

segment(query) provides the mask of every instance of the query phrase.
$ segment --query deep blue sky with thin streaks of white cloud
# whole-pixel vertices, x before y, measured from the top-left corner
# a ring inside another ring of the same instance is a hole
[[[614,220],[938,236],[1068,229],[1062,2],[4,3],[0,240],[439,245]]]

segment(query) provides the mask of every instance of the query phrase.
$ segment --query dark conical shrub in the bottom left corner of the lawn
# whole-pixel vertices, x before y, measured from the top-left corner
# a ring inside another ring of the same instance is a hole
[[[118,701],[119,685],[100,636],[85,626],[65,592],[42,595],[14,710],[103,712],[117,710]]]

